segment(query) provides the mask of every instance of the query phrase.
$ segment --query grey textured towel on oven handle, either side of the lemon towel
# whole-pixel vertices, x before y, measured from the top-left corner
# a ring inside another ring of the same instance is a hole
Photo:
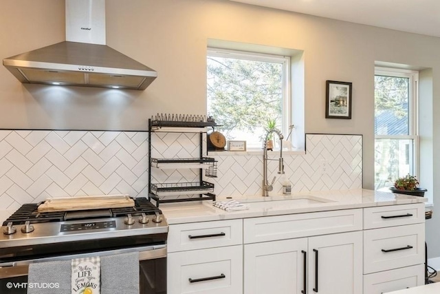
[[[71,260],[30,264],[28,294],[71,294],[71,275]],[[139,294],[139,291],[138,252],[101,257],[100,294]]]

